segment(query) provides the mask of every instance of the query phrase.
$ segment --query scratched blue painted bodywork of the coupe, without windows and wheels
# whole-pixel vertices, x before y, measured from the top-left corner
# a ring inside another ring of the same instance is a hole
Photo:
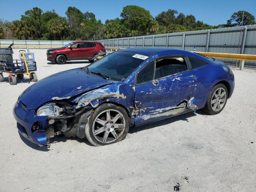
[[[130,48],[122,51],[148,56],[125,80],[106,80],[88,74],[86,68],[76,68],[44,78],[27,88],[14,106],[14,118],[19,132],[36,144],[46,144],[47,116],[36,116],[36,109],[47,102],[70,102],[79,108],[95,109],[105,102],[123,106],[134,125],[154,122],[203,108],[210,90],[220,81],[229,85],[228,98],[234,90],[234,75],[226,72],[224,63],[198,54],[170,48]],[[190,56],[208,63],[194,70],[160,78],[158,86],[152,82],[135,84],[135,76],[148,62],[166,55]],[[189,107],[196,106],[196,109]],[[22,109],[26,105],[27,111]],[[32,132],[35,122],[40,130]]]

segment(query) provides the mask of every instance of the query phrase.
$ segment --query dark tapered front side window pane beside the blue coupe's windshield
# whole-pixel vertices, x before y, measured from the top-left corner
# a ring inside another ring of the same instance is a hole
[[[137,75],[136,84],[153,80],[155,62],[148,63]]]

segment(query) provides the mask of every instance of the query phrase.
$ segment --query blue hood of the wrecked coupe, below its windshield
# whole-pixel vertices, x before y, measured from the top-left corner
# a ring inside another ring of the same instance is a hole
[[[87,74],[84,68],[76,68],[38,81],[20,95],[20,100],[28,110],[32,110],[46,102],[68,100],[73,96],[113,82],[94,74]]]

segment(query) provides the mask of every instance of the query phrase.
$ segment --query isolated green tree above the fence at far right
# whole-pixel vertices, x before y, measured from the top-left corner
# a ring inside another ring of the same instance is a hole
[[[255,17],[247,11],[238,11],[232,14],[229,20],[227,20],[227,26],[241,26],[241,25],[253,25],[255,23]]]

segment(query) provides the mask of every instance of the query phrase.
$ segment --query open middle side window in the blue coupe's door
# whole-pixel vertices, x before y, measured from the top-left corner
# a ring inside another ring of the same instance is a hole
[[[188,70],[183,57],[164,58],[156,61],[155,79],[170,76]]]

